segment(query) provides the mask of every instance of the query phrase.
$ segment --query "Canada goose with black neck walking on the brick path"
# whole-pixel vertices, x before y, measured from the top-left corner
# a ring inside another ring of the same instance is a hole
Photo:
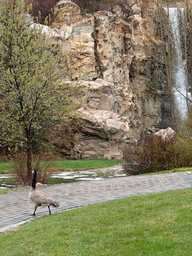
[[[50,213],[50,208],[49,206],[52,207],[58,207],[59,203],[55,202],[50,196],[45,194],[44,192],[37,191],[35,189],[35,184],[36,184],[36,170],[32,170],[33,173],[33,179],[32,179],[32,185],[30,188],[29,192],[29,199],[34,203],[34,212],[31,215],[35,215],[35,210],[38,206],[48,206],[49,214]]]

